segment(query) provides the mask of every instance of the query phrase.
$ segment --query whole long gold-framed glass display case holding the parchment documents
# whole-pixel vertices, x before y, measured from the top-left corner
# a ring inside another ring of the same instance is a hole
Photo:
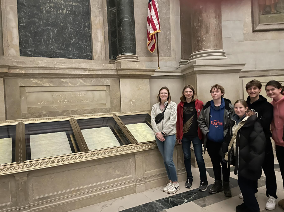
[[[0,175],[156,148],[149,111],[0,122]]]

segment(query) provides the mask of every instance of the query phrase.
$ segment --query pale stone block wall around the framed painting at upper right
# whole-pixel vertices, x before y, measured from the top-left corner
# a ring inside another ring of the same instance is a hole
[[[284,33],[252,32],[250,0],[222,1],[222,30],[227,57],[245,70],[283,69]]]

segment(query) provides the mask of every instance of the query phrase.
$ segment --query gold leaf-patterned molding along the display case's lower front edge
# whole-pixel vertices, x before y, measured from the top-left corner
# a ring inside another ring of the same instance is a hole
[[[110,156],[117,156],[127,154],[131,152],[139,152],[149,149],[155,149],[156,143],[147,143],[141,145],[129,145],[127,147],[121,146],[118,148],[99,150],[95,152],[72,154],[69,156],[61,156],[57,158],[38,160],[38,161],[26,161],[21,164],[11,164],[6,166],[0,166],[0,176],[14,173],[20,173],[25,171],[31,171],[36,169],[43,169],[48,167],[60,166],[64,164],[71,164],[76,162],[94,160],[99,158],[105,158]]]

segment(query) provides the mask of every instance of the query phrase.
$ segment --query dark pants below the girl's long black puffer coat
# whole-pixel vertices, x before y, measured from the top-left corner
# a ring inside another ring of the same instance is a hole
[[[254,196],[257,192],[257,180],[248,180],[238,177],[238,184],[244,197],[245,205],[253,212],[259,211],[258,202]]]

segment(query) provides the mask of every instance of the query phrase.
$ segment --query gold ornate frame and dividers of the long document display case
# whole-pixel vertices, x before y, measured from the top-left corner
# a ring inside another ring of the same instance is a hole
[[[33,119],[21,119],[21,120],[7,120],[0,122],[0,126],[16,125],[16,148],[15,148],[15,162],[9,164],[0,165],[0,176],[9,175],[14,173],[20,173],[25,171],[32,171],[36,169],[43,169],[48,167],[55,167],[65,164],[72,164],[77,162],[83,162],[87,160],[94,160],[99,158],[105,158],[110,156],[116,156],[121,154],[127,154],[130,152],[139,152],[143,150],[150,150],[156,148],[155,141],[147,141],[138,143],[135,137],[131,134],[128,128],[125,126],[119,116],[127,115],[141,115],[146,114],[151,116],[150,111],[139,111],[131,113],[105,113],[105,114],[90,114],[90,115],[77,115],[77,116],[60,116],[60,117],[48,117],[48,118],[33,118]],[[109,147],[104,149],[89,150],[82,135],[77,120],[93,119],[112,117],[118,126],[121,128],[124,135],[129,139],[131,144]],[[78,151],[72,154],[53,156],[48,158],[40,158],[34,160],[26,159],[26,140],[25,140],[25,125],[32,123],[45,123],[56,121],[69,121],[72,130],[74,132],[76,141],[78,143]]]

